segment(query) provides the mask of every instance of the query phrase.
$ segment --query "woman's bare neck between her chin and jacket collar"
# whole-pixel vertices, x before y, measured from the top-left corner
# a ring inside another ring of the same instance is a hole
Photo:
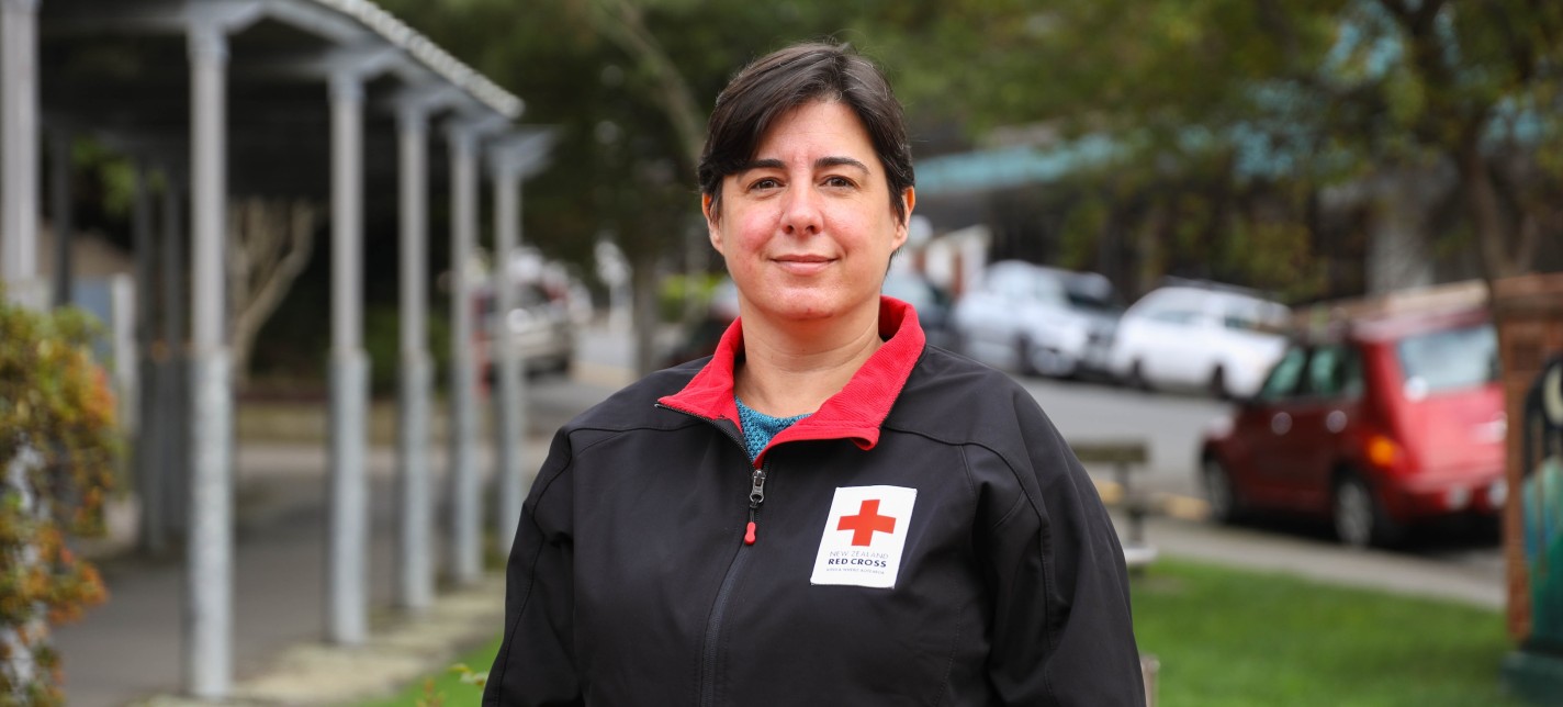
[[[744,318],[744,363],[733,391],[744,405],[791,418],[819,410],[883,344],[872,316],[775,327]]]

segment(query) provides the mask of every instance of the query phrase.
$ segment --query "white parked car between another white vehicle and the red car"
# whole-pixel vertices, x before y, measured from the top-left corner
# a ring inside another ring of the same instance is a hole
[[[1139,388],[1252,396],[1286,349],[1291,310],[1219,285],[1152,289],[1118,321],[1110,368]]]

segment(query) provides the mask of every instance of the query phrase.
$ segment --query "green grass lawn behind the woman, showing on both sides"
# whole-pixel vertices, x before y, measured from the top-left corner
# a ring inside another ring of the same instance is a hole
[[[1158,705],[1521,705],[1499,688],[1499,612],[1161,560],[1133,582],[1139,649],[1161,660]],[[499,641],[461,663],[486,669]],[[477,704],[456,674],[374,707]]]

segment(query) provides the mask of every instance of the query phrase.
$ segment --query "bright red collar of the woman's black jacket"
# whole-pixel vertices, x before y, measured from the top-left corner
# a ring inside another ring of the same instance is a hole
[[[814,415],[782,430],[771,446],[797,440],[852,440],[863,449],[878,443],[880,424],[889,415],[896,396],[907,385],[911,368],[922,355],[927,338],[911,305],[880,296],[880,346],[863,368],[852,375],[841,393],[830,396]],[[733,363],[744,350],[742,319],[733,321],[722,335],[716,355],[689,380],[685,389],[663,397],[660,404],[708,419],[727,419],[738,425],[733,402]],[[769,447],[766,447],[769,449]],[[761,454],[761,460],[764,454]],[[758,466],[761,460],[755,460]]]

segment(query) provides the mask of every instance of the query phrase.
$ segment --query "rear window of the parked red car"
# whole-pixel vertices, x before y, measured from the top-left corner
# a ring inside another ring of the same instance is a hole
[[[1411,397],[1497,382],[1497,335],[1490,324],[1407,336],[1394,352]]]

